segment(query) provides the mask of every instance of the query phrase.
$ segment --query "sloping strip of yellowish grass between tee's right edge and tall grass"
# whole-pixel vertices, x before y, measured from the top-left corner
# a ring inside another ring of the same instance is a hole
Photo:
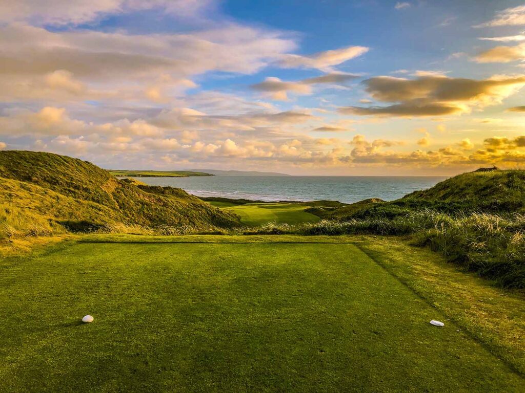
[[[471,336],[525,375],[525,300],[520,293],[490,286],[436,253],[393,237],[364,237],[358,243],[388,272]]]

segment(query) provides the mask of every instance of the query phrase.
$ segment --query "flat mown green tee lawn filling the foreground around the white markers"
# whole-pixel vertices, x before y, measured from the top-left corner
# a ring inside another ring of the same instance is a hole
[[[525,391],[454,310],[394,275],[384,242],[92,239],[0,260],[0,391]]]

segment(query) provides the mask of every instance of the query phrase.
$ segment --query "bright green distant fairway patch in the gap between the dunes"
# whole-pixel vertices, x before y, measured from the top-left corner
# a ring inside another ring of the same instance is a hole
[[[225,210],[238,214],[241,217],[241,222],[249,226],[258,226],[271,221],[278,224],[301,224],[319,221],[318,216],[304,211],[308,207],[296,203],[247,203],[229,206]]]

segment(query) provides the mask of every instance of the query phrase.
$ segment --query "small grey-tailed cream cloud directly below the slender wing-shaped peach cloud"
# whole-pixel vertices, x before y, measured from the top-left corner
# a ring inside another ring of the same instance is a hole
[[[356,75],[345,73],[328,73],[320,77],[307,78],[301,81],[282,81],[279,78],[268,77],[264,82],[250,86],[252,90],[259,91],[276,101],[287,101],[288,93],[311,94],[311,85],[315,84],[334,84],[342,85],[344,82],[358,78]]]

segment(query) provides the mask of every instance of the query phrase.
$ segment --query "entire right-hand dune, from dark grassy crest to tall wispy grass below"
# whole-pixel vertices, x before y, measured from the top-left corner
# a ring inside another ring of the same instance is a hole
[[[414,234],[450,261],[503,287],[525,288],[525,171],[463,173],[384,202],[365,200],[313,212],[333,222],[304,228],[269,228],[278,233]],[[271,230],[271,231],[270,231]]]

